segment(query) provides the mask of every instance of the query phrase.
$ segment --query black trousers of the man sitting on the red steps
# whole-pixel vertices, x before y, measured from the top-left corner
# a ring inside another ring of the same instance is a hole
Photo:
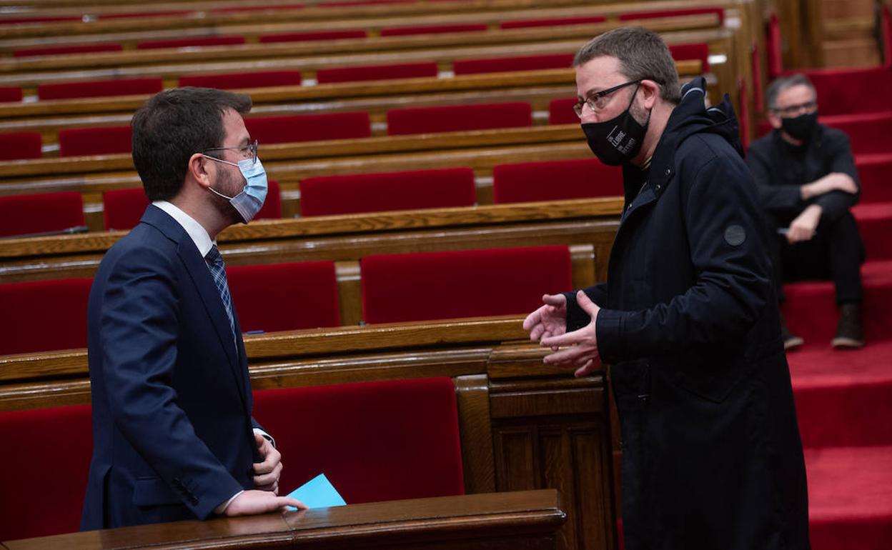
[[[768,253],[772,259],[778,299],[784,300],[783,283],[809,279],[831,279],[836,286],[837,304],[861,301],[861,264],[864,242],[851,212],[827,222],[822,220],[814,237],[790,244],[778,229],[789,227],[796,215],[766,215],[769,229]]]

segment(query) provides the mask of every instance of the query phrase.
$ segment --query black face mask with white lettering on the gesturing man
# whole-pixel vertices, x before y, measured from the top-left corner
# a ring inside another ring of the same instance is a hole
[[[635,102],[639,87],[640,85],[635,87],[629,106],[615,118],[604,122],[582,124],[582,131],[589,141],[589,149],[604,164],[609,166],[625,164],[641,149],[644,135],[648,133],[650,113],[643,126],[632,117],[632,103]]]

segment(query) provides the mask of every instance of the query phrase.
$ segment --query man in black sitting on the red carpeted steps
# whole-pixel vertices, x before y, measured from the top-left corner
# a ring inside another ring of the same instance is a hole
[[[774,130],[750,145],[747,165],[769,226],[774,282],[832,278],[839,321],[834,348],[864,345],[861,264],[864,245],[850,209],[860,192],[848,136],[818,124],[814,86],[805,75],[778,78],[767,92]],[[781,320],[784,347],[802,338]]]

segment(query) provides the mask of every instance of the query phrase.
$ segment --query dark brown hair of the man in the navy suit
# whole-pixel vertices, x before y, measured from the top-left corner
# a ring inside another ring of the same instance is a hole
[[[223,115],[251,111],[251,97],[191,86],[153,95],[133,115],[133,164],[149,201],[169,201],[186,179],[189,158],[223,146]]]

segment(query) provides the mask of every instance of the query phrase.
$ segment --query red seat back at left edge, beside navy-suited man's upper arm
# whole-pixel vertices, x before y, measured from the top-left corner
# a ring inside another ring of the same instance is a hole
[[[7,312],[0,316],[0,355],[86,348],[92,284],[91,278],[0,284]]]

